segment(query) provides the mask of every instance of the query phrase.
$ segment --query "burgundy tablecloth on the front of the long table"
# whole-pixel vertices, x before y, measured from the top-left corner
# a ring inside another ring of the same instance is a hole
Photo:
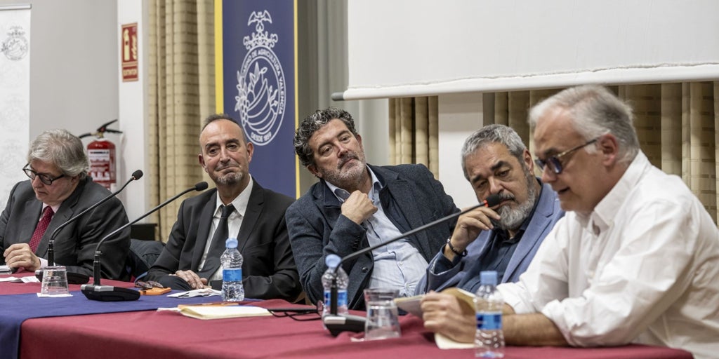
[[[253,303],[288,307],[281,300]],[[402,337],[353,342],[332,337],[320,321],[249,317],[196,320],[170,312],[125,312],[38,318],[22,325],[20,358],[474,358],[472,349],[439,350],[413,316],[400,320]],[[513,358],[692,358],[682,350],[630,345],[620,348],[506,349]]]

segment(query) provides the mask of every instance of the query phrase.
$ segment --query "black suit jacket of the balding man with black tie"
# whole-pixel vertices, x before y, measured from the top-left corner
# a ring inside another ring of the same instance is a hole
[[[217,189],[184,200],[165,249],[147,272],[157,281],[175,271],[198,271],[208,241]],[[252,185],[247,210],[237,234],[242,253],[244,296],[293,302],[302,292],[285,224],[285,210],[294,200]],[[219,268],[219,266],[218,266]]]

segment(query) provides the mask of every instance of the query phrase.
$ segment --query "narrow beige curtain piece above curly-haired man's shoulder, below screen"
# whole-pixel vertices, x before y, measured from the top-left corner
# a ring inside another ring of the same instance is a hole
[[[390,164],[424,164],[439,177],[437,97],[390,98]]]

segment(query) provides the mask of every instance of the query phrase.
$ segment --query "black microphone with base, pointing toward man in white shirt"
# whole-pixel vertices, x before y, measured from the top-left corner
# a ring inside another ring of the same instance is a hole
[[[387,246],[390,243],[394,243],[396,241],[399,241],[402,238],[407,238],[409,236],[412,236],[415,233],[421,232],[423,230],[427,230],[428,228],[433,227],[434,225],[438,225],[440,223],[444,223],[447,220],[451,220],[452,218],[457,218],[460,215],[463,215],[464,213],[470,212],[472,210],[475,210],[480,207],[494,207],[495,205],[500,204],[501,199],[500,196],[497,194],[489,195],[485,200],[480,202],[477,205],[474,205],[470,208],[465,208],[462,211],[452,213],[451,215],[446,215],[442,218],[439,218],[438,220],[434,220],[433,222],[427,223],[426,225],[421,225],[418,228],[415,228],[413,230],[409,230],[405,233],[400,234],[399,236],[396,236],[395,238],[391,238],[388,241],[385,241],[383,243],[379,243],[375,246],[370,246],[367,248],[362,248],[359,251],[354,251],[352,253],[349,253],[347,256],[342,257],[340,259],[339,264],[334,268],[334,277],[332,278],[332,282],[329,286],[329,315],[322,318],[322,322],[324,322],[325,327],[329,330],[331,335],[337,336],[340,332],[362,332],[362,330],[365,330],[365,317],[359,317],[358,315],[350,315],[350,314],[337,314],[337,269],[339,266],[342,266],[342,263],[345,261],[348,261],[349,259],[352,259],[354,257],[362,256],[362,254],[365,254],[370,251],[374,251],[377,248]],[[330,254],[330,256],[336,256],[335,254]]]

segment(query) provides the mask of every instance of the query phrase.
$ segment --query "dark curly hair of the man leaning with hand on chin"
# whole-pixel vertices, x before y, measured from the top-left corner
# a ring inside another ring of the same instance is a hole
[[[315,111],[315,113],[302,120],[300,126],[297,127],[295,138],[292,141],[295,146],[295,153],[303,166],[307,167],[314,164],[314,157],[309,144],[312,135],[329,121],[335,119],[342,121],[344,125],[347,126],[347,129],[352,132],[352,135],[357,137],[357,130],[354,129],[354,120],[349,112],[334,107]]]

